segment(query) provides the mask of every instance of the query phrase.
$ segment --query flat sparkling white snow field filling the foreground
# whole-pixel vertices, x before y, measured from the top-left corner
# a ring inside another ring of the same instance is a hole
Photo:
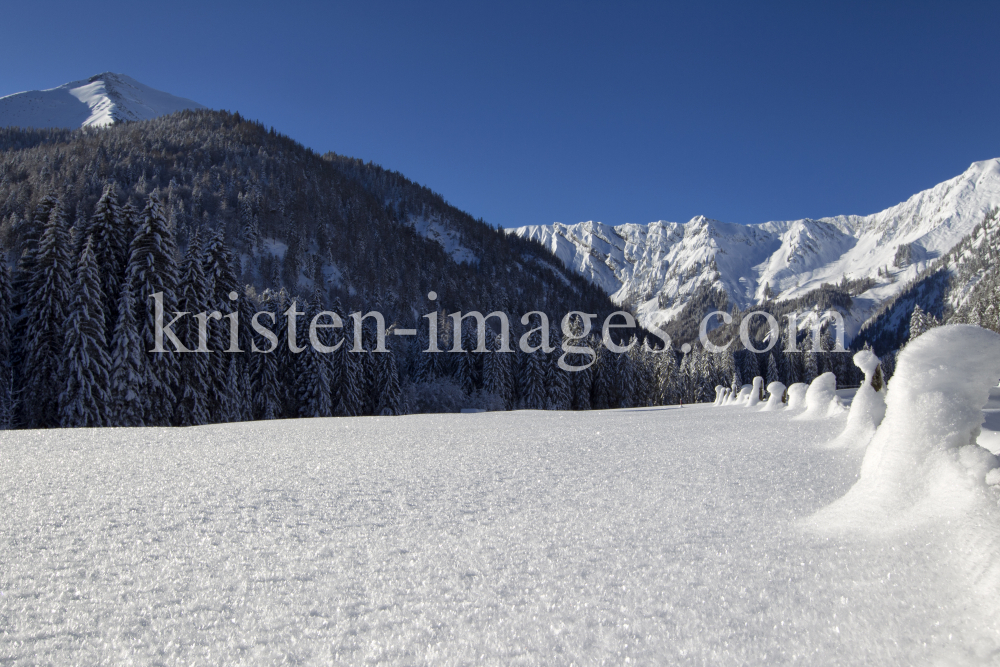
[[[860,462],[795,412],[2,433],[0,664],[995,660],[948,525],[802,527]]]

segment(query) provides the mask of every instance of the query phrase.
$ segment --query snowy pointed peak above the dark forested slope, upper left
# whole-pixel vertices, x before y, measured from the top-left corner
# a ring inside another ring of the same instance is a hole
[[[206,107],[105,72],[49,90],[0,97],[0,127],[102,127]]]

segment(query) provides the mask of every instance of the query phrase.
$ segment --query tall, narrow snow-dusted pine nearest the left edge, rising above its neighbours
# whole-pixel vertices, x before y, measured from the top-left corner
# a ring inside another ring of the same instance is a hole
[[[64,327],[70,308],[69,233],[60,205],[52,208],[39,241],[28,300],[24,378],[25,422],[31,427],[56,426],[63,376]]]

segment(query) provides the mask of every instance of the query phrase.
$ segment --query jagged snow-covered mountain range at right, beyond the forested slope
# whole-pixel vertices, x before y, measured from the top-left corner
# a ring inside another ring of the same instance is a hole
[[[807,307],[842,285],[848,337],[1000,205],[1000,160],[868,216],[743,225],[702,216],[686,223],[599,222],[519,227],[647,325],[690,316],[692,301],[747,309],[768,301]],[[699,311],[700,312],[700,311]],[[694,313],[698,314],[698,313]]]

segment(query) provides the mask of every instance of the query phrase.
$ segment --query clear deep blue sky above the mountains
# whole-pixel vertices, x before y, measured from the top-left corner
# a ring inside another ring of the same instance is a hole
[[[123,72],[505,227],[866,214],[1000,157],[998,2],[542,4],[8,3],[0,95]]]

